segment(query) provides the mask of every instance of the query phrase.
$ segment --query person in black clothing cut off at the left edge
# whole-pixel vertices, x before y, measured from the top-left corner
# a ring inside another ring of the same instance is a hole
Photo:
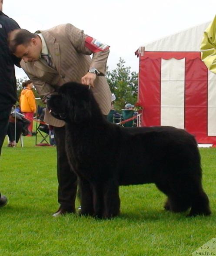
[[[20,59],[10,54],[7,35],[20,28],[16,21],[2,12],[3,0],[0,0],[0,155],[7,134],[10,110],[17,101],[17,85],[14,64],[20,67]],[[7,204],[7,197],[0,194],[0,206]]]

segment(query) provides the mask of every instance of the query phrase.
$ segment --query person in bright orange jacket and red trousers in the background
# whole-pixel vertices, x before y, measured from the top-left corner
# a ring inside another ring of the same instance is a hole
[[[36,113],[36,101],[33,94],[33,82],[31,80],[23,82],[23,90],[20,95],[20,108],[23,115],[31,122],[28,130],[30,132],[29,136],[32,136],[32,127],[33,127],[33,116]]]

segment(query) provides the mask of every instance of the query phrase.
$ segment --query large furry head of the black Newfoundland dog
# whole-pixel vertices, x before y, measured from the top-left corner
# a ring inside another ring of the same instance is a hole
[[[70,82],[63,84],[58,93],[47,98],[47,107],[53,117],[73,123],[91,118],[91,93],[88,86]]]

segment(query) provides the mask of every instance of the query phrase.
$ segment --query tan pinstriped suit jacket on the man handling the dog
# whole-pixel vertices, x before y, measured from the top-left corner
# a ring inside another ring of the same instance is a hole
[[[94,53],[93,58],[91,58],[90,55],[93,52],[85,46],[86,35],[83,30],[71,24],[59,25],[36,33],[43,35],[53,64],[56,67],[56,70],[49,67],[43,59],[28,63],[21,61],[21,66],[33,81],[39,95],[46,97],[48,94],[55,92],[58,86],[69,81],[81,83],[81,77],[91,67],[95,67],[100,71],[100,75],[96,77],[94,88],[91,88],[91,90],[103,115],[107,115],[111,106],[111,92],[104,74],[109,49]],[[44,121],[56,127],[65,124],[63,121],[53,118],[47,109]]]

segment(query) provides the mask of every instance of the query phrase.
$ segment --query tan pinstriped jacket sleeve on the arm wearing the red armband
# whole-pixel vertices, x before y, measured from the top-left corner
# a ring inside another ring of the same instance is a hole
[[[66,24],[66,36],[69,38],[71,44],[73,44],[73,47],[77,52],[86,55],[93,54],[90,68],[96,68],[100,72],[99,75],[104,76],[107,58],[110,53],[109,47],[105,51],[93,52],[86,47],[86,37],[88,36],[84,34],[83,30],[74,27],[72,24]]]

